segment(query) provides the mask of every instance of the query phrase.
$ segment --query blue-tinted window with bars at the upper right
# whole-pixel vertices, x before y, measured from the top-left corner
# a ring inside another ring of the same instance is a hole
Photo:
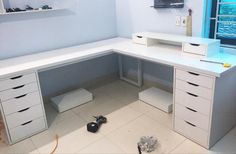
[[[212,0],[209,37],[236,46],[236,0]]]

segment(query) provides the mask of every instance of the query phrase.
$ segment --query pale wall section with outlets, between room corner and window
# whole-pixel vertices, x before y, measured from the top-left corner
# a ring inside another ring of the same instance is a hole
[[[116,0],[118,35],[131,37],[132,33],[156,31],[185,34],[185,28],[175,25],[175,17],[188,15],[193,10],[193,35],[201,36],[204,0],[185,0],[183,9],[154,9],[154,0]]]

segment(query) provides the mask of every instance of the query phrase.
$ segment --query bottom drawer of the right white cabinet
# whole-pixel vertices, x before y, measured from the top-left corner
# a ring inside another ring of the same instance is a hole
[[[175,117],[175,131],[208,148],[208,133],[188,122]]]

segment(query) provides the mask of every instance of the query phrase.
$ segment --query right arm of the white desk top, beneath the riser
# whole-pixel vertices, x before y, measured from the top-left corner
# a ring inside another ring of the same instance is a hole
[[[181,67],[190,71],[198,71],[208,75],[220,77],[223,73],[236,66],[236,55],[219,53],[212,57],[205,58],[206,60],[214,60],[218,62],[230,63],[231,68],[224,68],[219,64],[201,62],[199,58],[181,55],[181,48],[178,46],[158,45],[146,47],[127,41],[117,44],[113,47],[115,52],[129,55],[136,58],[145,59],[152,62],[166,64],[169,66]]]

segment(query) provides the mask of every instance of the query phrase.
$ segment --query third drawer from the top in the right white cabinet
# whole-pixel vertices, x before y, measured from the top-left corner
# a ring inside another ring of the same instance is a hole
[[[191,93],[176,89],[175,103],[194,109],[202,114],[210,115],[211,102]]]

